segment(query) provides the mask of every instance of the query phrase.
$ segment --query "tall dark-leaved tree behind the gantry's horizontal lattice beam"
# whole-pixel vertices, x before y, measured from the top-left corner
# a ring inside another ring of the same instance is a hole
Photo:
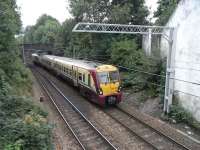
[[[144,0],[113,0],[112,2],[109,0],[70,0],[70,6],[75,24],[77,22],[145,24],[149,13],[147,7],[144,6]],[[70,43],[68,45],[71,47],[67,48],[70,52],[75,49],[77,54],[83,57],[100,58],[98,55],[110,55],[108,49],[111,47],[112,40],[131,39],[135,36],[75,33],[71,37],[71,41],[68,40]]]

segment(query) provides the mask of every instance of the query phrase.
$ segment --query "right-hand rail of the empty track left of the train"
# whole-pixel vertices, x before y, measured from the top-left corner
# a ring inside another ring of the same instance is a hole
[[[39,72],[40,73],[40,72]],[[41,76],[44,77],[44,79],[46,81],[48,81],[52,87],[54,87],[56,89],[56,91],[58,91],[58,93],[72,106],[72,108],[102,137],[102,139],[109,144],[109,146],[114,149],[117,150],[117,148],[85,117],[85,115],[61,92],[61,90],[49,79],[45,78],[45,76],[43,74],[41,74]]]

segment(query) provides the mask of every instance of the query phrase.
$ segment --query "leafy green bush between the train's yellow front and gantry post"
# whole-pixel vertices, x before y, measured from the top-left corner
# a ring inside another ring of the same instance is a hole
[[[160,86],[164,86],[165,79],[146,72],[165,75],[164,62],[149,59],[144,50],[139,48],[135,39],[122,38],[114,40],[111,45],[111,63],[130,68],[122,69],[124,88],[131,87],[135,92],[144,90],[149,96],[163,94],[164,88]]]

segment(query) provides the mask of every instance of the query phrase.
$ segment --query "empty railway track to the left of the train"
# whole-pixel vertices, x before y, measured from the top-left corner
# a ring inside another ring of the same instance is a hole
[[[31,68],[36,79],[83,150],[116,150],[109,140],[41,72]]]

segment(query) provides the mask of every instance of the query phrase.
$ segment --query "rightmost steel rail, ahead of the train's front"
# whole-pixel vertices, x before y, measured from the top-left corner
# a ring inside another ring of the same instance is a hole
[[[173,138],[171,138],[170,136],[164,134],[162,131],[157,130],[156,128],[153,128],[152,126],[150,126],[149,124],[147,124],[146,122],[138,119],[137,117],[131,115],[130,113],[126,112],[125,110],[123,110],[122,108],[116,107],[118,110],[120,110],[121,112],[125,113],[126,115],[128,115],[131,118],[134,118],[135,120],[137,120],[138,122],[140,122],[141,124],[145,125],[146,127],[152,129],[153,131],[155,131],[156,133],[158,133],[159,135],[167,138],[169,141],[173,142],[174,144],[178,145],[181,148],[184,148],[185,150],[191,150],[190,148],[186,147],[185,145],[175,141]]]

